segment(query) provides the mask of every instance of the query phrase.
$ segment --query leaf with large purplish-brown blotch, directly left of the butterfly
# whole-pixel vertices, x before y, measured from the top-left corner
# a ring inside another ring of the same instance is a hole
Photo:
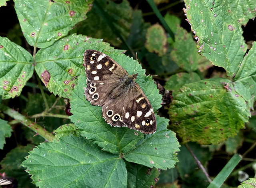
[[[83,68],[86,49],[113,50],[102,40],[87,36],[70,35],[58,40],[52,46],[36,53],[36,73],[54,95],[69,98],[70,91],[77,84],[76,77]]]

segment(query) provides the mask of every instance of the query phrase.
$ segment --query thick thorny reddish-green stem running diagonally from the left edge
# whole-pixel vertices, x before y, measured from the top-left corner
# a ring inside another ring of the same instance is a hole
[[[54,138],[54,136],[46,131],[43,127],[39,126],[35,122],[32,122],[30,119],[26,118],[24,115],[18,113],[14,109],[11,109],[3,104],[1,104],[0,107],[5,114],[15,119],[15,121],[20,121],[20,123],[35,131],[36,134],[43,137],[46,141],[51,141]]]

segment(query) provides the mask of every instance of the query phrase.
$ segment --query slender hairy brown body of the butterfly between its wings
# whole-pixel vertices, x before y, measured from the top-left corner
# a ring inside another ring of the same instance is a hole
[[[127,75],[124,77],[124,79],[121,81],[122,83],[118,85],[112,92],[112,99],[115,99],[122,95],[122,93],[125,93],[130,87],[133,87],[135,80],[137,78],[137,74]]]

